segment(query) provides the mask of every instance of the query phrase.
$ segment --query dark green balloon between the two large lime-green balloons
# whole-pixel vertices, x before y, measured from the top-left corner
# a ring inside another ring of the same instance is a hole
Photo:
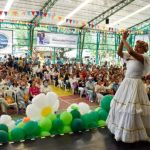
[[[59,134],[62,132],[63,127],[64,127],[63,121],[57,118],[53,121],[53,128],[51,129],[51,133]]]

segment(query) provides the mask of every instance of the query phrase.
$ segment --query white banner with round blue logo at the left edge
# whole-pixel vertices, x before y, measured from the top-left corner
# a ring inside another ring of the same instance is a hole
[[[0,30],[0,54],[12,54],[13,31]]]

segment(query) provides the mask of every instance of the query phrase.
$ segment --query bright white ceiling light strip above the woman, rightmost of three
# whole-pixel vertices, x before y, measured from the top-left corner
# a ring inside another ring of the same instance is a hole
[[[118,21],[116,21],[116,22],[110,24],[109,27],[113,27],[113,26],[119,24],[120,22],[125,21],[125,20],[127,20],[128,18],[130,18],[130,17],[132,17],[132,16],[134,16],[134,15],[136,15],[136,14],[138,14],[138,13],[144,11],[145,9],[147,9],[147,8],[149,8],[149,7],[150,7],[150,4],[147,5],[147,6],[145,6],[145,7],[142,7],[141,9],[139,9],[139,10],[133,12],[133,13],[130,14],[130,15],[127,15],[126,17],[124,17],[124,18],[122,18],[122,19],[120,19],[120,20],[118,20]]]

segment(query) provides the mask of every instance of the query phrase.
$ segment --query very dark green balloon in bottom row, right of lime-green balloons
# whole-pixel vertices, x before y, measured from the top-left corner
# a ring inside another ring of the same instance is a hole
[[[84,130],[84,124],[81,119],[74,119],[71,124],[71,128],[73,132]]]

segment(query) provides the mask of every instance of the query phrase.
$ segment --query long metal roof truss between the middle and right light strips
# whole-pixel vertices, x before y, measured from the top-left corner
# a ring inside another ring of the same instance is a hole
[[[96,16],[95,18],[90,20],[87,24],[91,24],[92,23],[94,26],[96,26],[99,23],[101,23],[103,20],[105,20],[106,18],[112,16],[113,14],[115,14],[116,12],[118,12],[119,10],[124,8],[125,6],[129,5],[130,3],[132,3],[133,1],[135,1],[135,0],[122,0],[119,3],[117,3],[116,5],[110,7],[109,9],[104,11],[103,13],[99,14],[98,16]],[[85,26],[86,25],[82,26],[81,28],[84,28]]]

